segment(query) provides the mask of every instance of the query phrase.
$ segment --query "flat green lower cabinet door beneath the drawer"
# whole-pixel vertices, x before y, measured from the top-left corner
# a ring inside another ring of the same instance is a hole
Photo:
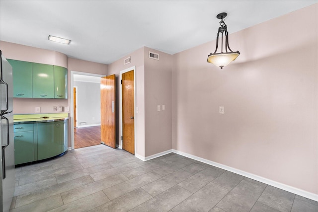
[[[14,158],[15,165],[34,161],[33,131],[14,133]]]

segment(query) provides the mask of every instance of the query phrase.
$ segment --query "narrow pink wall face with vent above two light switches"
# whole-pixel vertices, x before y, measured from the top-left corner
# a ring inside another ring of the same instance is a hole
[[[150,59],[149,51],[158,53],[159,60]],[[145,47],[146,157],[172,148],[172,57]]]

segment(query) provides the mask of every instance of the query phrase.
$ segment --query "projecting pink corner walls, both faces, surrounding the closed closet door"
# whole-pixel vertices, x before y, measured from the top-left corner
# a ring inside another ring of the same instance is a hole
[[[149,59],[149,51],[159,53],[160,60]],[[128,57],[131,57],[131,63],[124,65],[124,59]],[[136,66],[136,107],[139,107],[135,117],[136,154],[147,157],[172,147],[172,56],[143,47],[110,64],[108,73],[119,76],[120,71],[132,66]],[[158,112],[157,105],[163,104],[165,110]],[[119,121],[117,123],[120,129]],[[120,138],[120,134],[117,138]]]

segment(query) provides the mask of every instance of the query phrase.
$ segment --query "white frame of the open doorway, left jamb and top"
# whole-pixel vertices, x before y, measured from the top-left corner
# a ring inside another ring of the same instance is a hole
[[[101,74],[96,74],[96,73],[86,73],[86,72],[80,72],[80,71],[71,71],[71,79],[70,79],[70,87],[72,88],[71,91],[73,90],[74,87],[74,74],[80,74],[80,75],[86,75],[86,76],[97,76],[97,77],[102,77],[105,75]],[[71,149],[74,149],[74,94],[73,92],[71,93],[71,111],[70,111],[70,116],[71,116]]]

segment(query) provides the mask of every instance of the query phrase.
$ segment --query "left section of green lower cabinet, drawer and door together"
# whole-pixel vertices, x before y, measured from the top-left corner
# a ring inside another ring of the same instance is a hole
[[[34,139],[36,138],[34,124],[14,125],[13,131],[15,165],[36,160],[37,145],[36,139]]]

